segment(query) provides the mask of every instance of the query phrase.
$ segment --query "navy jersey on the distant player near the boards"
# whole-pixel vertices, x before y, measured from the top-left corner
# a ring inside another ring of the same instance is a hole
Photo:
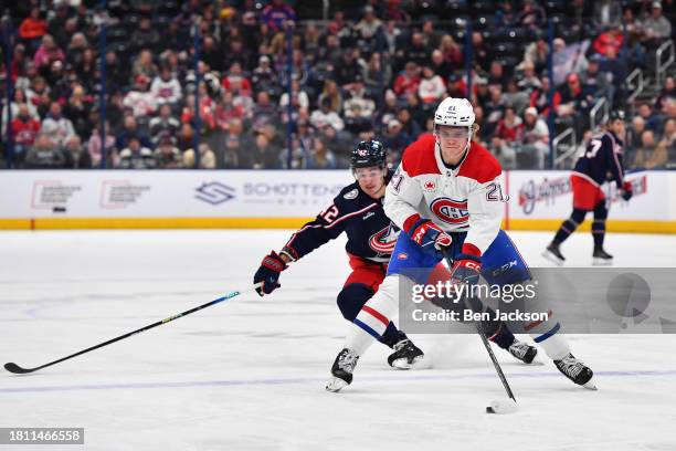
[[[573,172],[587,176],[596,183],[602,185],[615,180],[617,187],[624,181],[624,166],[622,162],[622,147],[624,143],[612,132],[594,136],[584,153],[578,158]]]

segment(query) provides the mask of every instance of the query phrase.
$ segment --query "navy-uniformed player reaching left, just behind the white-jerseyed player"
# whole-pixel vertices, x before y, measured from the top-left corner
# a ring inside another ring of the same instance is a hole
[[[359,143],[352,150],[350,167],[357,181],[345,187],[314,221],[294,233],[278,253],[272,251],[263,259],[254,275],[254,285],[261,296],[282,286],[279,274],[292,262],[342,232],[347,233],[346,251],[352,269],[338,293],[342,316],[353,321],[378,291],[399,235],[399,229],[382,209],[385,187],[392,176],[385,167],[383,145],[378,140]],[[423,356],[392,322],[388,322],[380,342],[394,349],[388,357],[393,367],[408,369]]]

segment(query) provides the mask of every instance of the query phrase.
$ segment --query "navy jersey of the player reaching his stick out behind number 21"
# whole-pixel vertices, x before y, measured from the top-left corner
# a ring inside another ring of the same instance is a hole
[[[391,174],[385,182],[390,178]],[[371,198],[353,182],[345,187],[314,221],[294,233],[283,252],[298,260],[342,232],[347,233],[345,249],[348,253],[377,263],[390,261],[399,237],[399,229],[382,209],[382,199]]]

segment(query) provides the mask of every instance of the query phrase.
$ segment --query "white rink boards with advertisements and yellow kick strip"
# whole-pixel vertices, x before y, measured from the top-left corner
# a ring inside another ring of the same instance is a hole
[[[570,214],[569,176],[506,171],[504,228],[556,230]],[[676,233],[676,174],[642,171],[627,180],[630,202],[614,183],[603,186],[609,230]],[[296,228],[351,181],[347,170],[3,171],[0,230]]]

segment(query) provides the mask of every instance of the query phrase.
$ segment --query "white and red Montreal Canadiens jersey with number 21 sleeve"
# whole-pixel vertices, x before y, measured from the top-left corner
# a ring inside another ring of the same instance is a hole
[[[448,232],[467,232],[463,252],[483,254],[495,240],[505,210],[500,164],[472,143],[465,158],[447,168],[433,135],[404,151],[388,185],[385,214],[406,232],[421,218]]]

